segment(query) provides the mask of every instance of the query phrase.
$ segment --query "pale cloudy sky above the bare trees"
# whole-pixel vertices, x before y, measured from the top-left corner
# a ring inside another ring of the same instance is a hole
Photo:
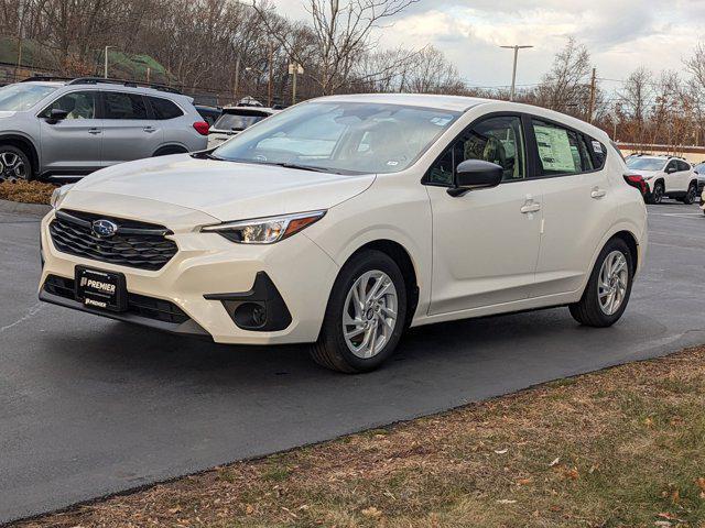
[[[290,19],[310,18],[306,0],[273,0]],[[605,89],[639,66],[683,72],[701,35],[705,0],[420,0],[380,33],[381,47],[442,50],[469,85],[511,82],[513,52],[521,51],[518,85],[539,82],[555,53],[574,36],[590,52]]]

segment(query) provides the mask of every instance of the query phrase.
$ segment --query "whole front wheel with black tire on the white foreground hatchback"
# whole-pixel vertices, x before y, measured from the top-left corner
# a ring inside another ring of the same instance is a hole
[[[399,266],[386,253],[365,251],[340,270],[311,355],[333,371],[373,371],[394,352],[405,319],[406,287]]]

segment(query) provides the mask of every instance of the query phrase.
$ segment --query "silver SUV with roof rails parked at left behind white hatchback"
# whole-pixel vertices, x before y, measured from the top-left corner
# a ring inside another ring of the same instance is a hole
[[[193,99],[99,78],[0,88],[0,177],[84,176],[116,163],[205,150]]]

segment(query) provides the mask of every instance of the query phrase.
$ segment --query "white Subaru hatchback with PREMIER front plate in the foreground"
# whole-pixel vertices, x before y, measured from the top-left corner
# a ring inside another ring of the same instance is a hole
[[[218,343],[313,343],[369,371],[403,330],[625,311],[641,195],[600,130],[444,96],[297,105],[215,151],[124,163],[53,198],[40,298]]]

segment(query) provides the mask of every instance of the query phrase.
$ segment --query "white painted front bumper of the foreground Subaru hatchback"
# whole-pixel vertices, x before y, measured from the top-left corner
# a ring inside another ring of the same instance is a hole
[[[272,245],[246,245],[217,233],[173,229],[174,234],[169,238],[178,246],[176,255],[159,271],[144,271],[57,251],[48,233],[53,219],[52,211],[42,221],[42,300],[176,333],[209,336],[218,343],[283,344],[313,342],[318,337],[338,266],[305,233]],[[169,301],[183,310],[189,321],[154,321],[139,314],[86,308],[45,288],[51,276],[73,280],[76,265],[122,273],[130,295]],[[290,314],[283,330],[243,330],[228,314],[228,302],[247,299],[256,289],[258,274],[271,279]]]

